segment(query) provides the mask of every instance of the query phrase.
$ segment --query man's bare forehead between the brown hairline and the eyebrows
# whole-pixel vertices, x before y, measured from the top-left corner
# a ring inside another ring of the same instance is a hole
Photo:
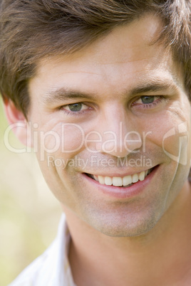
[[[106,95],[148,80],[183,85],[182,69],[172,60],[170,48],[156,43],[161,28],[160,18],[148,14],[72,55],[44,58],[29,87],[33,91],[41,85],[43,93],[62,87],[100,92],[101,87]]]

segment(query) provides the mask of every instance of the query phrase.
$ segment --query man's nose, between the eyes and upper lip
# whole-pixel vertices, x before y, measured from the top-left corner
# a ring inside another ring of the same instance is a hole
[[[123,107],[106,109],[100,117],[97,131],[100,133],[100,140],[96,142],[97,152],[126,157],[130,153],[139,152],[142,146],[135,121]]]

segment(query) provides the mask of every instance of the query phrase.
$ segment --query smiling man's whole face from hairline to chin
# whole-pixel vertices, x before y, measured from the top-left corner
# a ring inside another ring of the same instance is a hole
[[[29,82],[48,186],[107,235],[150,231],[187,189],[190,102],[180,66],[153,43],[159,29],[150,15],[115,28],[73,55],[42,60]]]

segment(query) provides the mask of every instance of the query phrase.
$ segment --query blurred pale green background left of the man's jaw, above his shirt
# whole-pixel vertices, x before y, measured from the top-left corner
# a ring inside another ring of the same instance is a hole
[[[50,245],[61,216],[35,155],[5,147],[7,126],[0,100],[0,286],[8,285]],[[23,148],[14,134],[9,139],[13,147]]]

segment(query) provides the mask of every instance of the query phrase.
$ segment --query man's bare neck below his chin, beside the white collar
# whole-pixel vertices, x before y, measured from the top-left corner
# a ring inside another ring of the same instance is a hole
[[[154,281],[156,286],[186,285],[183,282],[191,278],[190,186],[180,192],[149,233],[137,237],[104,235],[68,208],[64,211],[72,238],[69,260],[77,285],[146,286]]]

